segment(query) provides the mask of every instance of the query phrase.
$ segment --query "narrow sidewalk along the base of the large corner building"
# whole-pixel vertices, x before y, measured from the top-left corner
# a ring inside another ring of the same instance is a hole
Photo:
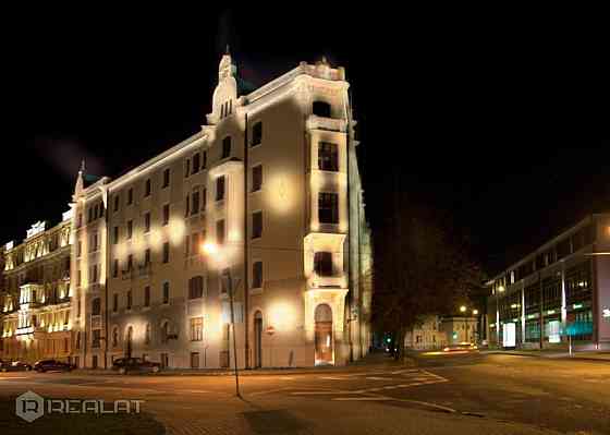
[[[358,361],[354,361],[347,365],[327,365],[327,366],[315,366],[315,367],[269,367],[269,368],[240,368],[240,376],[261,376],[261,375],[297,375],[297,374],[328,374],[333,372],[345,372],[358,368],[387,368],[387,367],[404,367],[413,366],[414,363],[411,360],[405,360],[404,362],[395,361],[390,358],[387,353],[374,352],[367,354],[365,358]],[[73,374],[82,375],[119,375],[119,372],[113,370],[103,368],[76,368],[72,371]],[[133,373],[131,375],[136,375],[141,373]],[[148,373],[142,373],[147,375]],[[159,373],[155,373],[155,376],[233,376],[235,374],[233,368],[167,368]]]

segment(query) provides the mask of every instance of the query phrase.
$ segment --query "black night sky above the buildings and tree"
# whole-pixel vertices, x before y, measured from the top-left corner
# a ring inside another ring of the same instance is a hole
[[[589,136],[603,132],[590,124],[608,124],[608,104],[597,110],[607,76],[596,87],[603,71],[569,62],[559,37],[451,14],[284,5],[283,17],[252,9],[40,13],[24,17],[27,27],[15,19],[2,55],[0,242],[59,219],[82,158],[115,176],[198,131],[227,44],[255,84],[322,55],[346,68],[374,228],[389,166],[472,234],[490,269],[610,210],[610,142]]]

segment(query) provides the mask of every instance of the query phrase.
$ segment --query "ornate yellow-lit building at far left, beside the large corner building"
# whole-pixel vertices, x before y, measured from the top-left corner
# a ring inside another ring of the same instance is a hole
[[[21,244],[4,245],[0,359],[71,361],[70,212],[47,229],[39,221]]]

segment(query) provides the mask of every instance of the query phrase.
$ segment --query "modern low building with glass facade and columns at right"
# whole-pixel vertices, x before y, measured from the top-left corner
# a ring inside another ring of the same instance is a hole
[[[491,345],[610,349],[610,215],[588,216],[488,286]]]

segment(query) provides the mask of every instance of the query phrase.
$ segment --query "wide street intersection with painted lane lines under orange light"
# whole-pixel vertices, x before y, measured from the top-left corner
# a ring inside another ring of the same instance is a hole
[[[60,420],[64,431],[75,418],[20,420],[14,398],[27,390],[45,398],[143,400],[144,420],[114,433],[610,434],[608,362],[466,353],[400,365],[378,355],[309,373],[248,373],[240,383],[242,399],[225,375],[2,373],[2,434],[54,433]],[[106,415],[86,416],[98,422],[89,435],[105,428]]]

